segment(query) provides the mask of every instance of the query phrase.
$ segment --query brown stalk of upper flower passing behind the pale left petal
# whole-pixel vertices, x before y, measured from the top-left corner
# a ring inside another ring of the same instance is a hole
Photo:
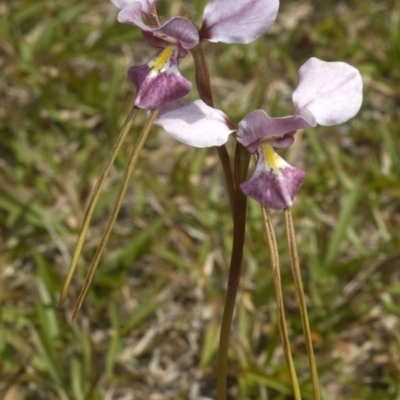
[[[208,106],[214,108],[214,100],[211,92],[210,85],[210,74],[208,72],[208,67],[206,60],[204,58],[203,50],[201,48],[201,42],[193,48],[191,51],[193,60],[196,66],[196,86],[199,92],[200,98]],[[228,190],[229,202],[231,205],[232,213],[235,208],[235,187],[232,177],[232,168],[229,160],[229,154],[226,150],[225,145],[217,146],[218,156],[221,160],[222,169],[224,171],[226,187]]]

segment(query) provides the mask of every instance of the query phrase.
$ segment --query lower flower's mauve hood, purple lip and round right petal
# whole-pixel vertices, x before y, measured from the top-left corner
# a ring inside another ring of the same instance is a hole
[[[346,122],[357,114],[361,102],[362,79],[356,68],[309,59],[299,70],[293,115],[271,118],[257,110],[239,123],[238,141],[257,158],[254,174],[241,185],[243,192],[264,207],[290,207],[305,173],[286,163],[274,149],[288,147],[298,129]]]

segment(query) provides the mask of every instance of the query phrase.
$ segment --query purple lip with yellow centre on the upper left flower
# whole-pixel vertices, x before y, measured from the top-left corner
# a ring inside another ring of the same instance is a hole
[[[129,79],[137,88],[137,107],[160,109],[190,92],[192,84],[180,74],[178,61],[177,49],[167,46],[147,64],[129,68]]]

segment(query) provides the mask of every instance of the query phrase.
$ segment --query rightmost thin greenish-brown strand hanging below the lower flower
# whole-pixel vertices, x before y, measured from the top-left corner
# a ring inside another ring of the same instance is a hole
[[[285,208],[284,215],[285,215],[287,241],[289,245],[290,262],[296,286],[297,301],[299,302],[300,305],[301,323],[303,326],[304,337],[306,339],[308,359],[311,368],[311,377],[314,388],[314,400],[320,400],[321,393],[318,380],[317,364],[315,362],[315,355],[314,355],[314,349],[310,331],[310,323],[308,320],[308,313],[307,313],[307,305],[304,296],[303,282],[301,279],[300,263],[299,263],[299,256],[297,253],[296,235],[294,232],[293,218],[289,208]]]

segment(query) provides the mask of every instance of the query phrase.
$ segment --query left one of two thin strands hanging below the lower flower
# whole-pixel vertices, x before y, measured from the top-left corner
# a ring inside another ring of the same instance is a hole
[[[294,398],[295,400],[301,400],[299,381],[297,379],[297,374],[293,363],[292,352],[290,350],[289,335],[286,327],[281,275],[279,270],[279,254],[278,254],[278,247],[276,244],[274,227],[272,225],[271,214],[269,209],[262,207],[262,212],[264,216],[265,232],[267,235],[267,242],[269,247],[269,254],[270,254],[270,261],[272,268],[272,278],[274,281],[274,288],[275,288],[276,305],[278,309],[279,332],[281,335],[281,341],[282,341],[283,351],[285,353],[286,363],[289,368],[289,374],[292,380]]]

